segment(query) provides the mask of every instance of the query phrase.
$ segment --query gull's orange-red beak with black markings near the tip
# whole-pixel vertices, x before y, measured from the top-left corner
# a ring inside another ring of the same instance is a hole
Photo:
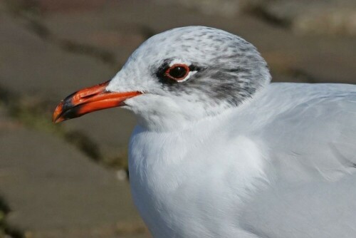
[[[120,107],[121,105],[125,105],[124,101],[127,98],[142,94],[140,92],[109,92],[105,90],[109,82],[110,81],[107,81],[90,88],[84,88],[68,95],[67,98],[57,105],[56,110],[54,110],[52,117],[53,123],[78,118],[81,115],[91,113],[95,110]]]

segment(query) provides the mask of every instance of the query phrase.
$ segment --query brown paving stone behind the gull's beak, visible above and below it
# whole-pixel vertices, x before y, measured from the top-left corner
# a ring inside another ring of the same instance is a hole
[[[42,98],[54,109],[69,93],[115,75],[102,62],[65,52],[38,38],[9,15],[1,16],[0,86],[11,93]],[[103,155],[114,157],[125,154],[135,119],[127,111],[108,110],[63,125],[88,135]]]

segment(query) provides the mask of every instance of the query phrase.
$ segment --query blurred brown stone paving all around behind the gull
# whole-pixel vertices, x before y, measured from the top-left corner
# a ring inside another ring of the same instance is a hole
[[[51,113],[189,25],[246,38],[273,81],[356,83],[355,0],[0,0],[0,237],[150,237],[125,172],[135,118]]]

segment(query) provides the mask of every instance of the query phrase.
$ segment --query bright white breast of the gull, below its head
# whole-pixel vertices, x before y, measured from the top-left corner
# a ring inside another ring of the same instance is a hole
[[[221,127],[227,118],[180,133],[135,129],[132,197],[154,237],[253,237],[239,228],[239,210],[266,184],[266,151],[248,135]]]

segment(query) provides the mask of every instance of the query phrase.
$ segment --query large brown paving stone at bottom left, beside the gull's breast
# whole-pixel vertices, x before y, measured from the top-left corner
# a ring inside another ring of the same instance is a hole
[[[1,128],[0,151],[0,191],[14,227],[34,237],[147,237],[128,183],[62,140]]]

